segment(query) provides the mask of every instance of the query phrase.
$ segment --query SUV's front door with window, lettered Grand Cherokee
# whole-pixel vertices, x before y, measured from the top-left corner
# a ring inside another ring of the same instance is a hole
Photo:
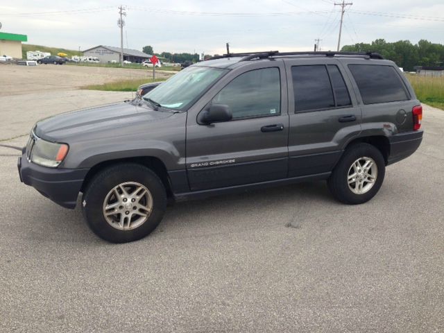
[[[203,108],[188,114],[191,191],[287,177],[289,116],[283,62],[245,67],[227,74],[206,95]],[[198,123],[198,113],[215,104],[228,105],[232,120]]]

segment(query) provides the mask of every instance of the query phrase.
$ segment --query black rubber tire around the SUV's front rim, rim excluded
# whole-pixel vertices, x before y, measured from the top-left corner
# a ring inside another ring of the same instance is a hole
[[[119,230],[108,223],[103,214],[103,203],[108,193],[123,182],[144,185],[153,198],[153,210],[139,227]],[[137,241],[150,234],[162,221],[167,208],[167,191],[162,180],[150,169],[133,163],[116,164],[105,169],[89,182],[82,198],[83,217],[89,228],[101,239],[111,243]]]

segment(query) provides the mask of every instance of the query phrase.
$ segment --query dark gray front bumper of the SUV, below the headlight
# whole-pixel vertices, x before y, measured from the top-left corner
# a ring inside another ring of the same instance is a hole
[[[78,193],[89,169],[47,168],[28,162],[26,155],[17,162],[20,181],[58,205],[74,209]]]

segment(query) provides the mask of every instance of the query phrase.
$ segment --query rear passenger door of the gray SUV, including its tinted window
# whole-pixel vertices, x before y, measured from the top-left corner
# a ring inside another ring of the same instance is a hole
[[[341,62],[286,60],[289,77],[289,177],[332,171],[361,131],[361,108]]]

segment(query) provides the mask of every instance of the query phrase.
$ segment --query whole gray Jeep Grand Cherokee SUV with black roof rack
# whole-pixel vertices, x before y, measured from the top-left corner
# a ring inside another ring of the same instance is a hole
[[[365,203],[422,140],[422,108],[377,53],[237,53],[142,99],[36,123],[20,179],[116,243],[152,232],[168,200],[327,180]]]

